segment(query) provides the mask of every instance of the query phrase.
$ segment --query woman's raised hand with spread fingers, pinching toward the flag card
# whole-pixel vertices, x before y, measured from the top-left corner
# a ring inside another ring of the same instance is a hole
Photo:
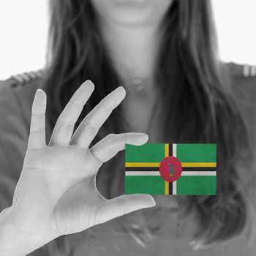
[[[12,206],[0,215],[12,226],[10,233],[15,232],[15,239],[22,238],[25,254],[58,236],[77,233],[155,205],[150,195],[122,195],[106,200],[99,194],[96,176],[102,163],[123,150],[125,143],[146,143],[148,135],[110,134],[89,148],[99,128],[124,99],[122,87],[102,99],[72,135],[83,105],[93,91],[94,84],[86,81],[75,92],[59,116],[48,146],[45,144],[46,94],[39,89],[34,97],[23,170]]]

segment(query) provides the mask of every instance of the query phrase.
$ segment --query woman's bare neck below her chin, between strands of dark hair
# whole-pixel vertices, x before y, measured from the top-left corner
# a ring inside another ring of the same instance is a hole
[[[159,48],[157,25],[135,27],[102,22],[101,31],[110,59],[121,80],[153,80]]]

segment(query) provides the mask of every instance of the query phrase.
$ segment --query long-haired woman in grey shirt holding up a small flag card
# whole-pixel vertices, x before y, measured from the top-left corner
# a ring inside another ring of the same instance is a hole
[[[254,145],[213,34],[206,0],[51,2],[48,69],[2,90],[4,255],[253,255]],[[120,196],[146,141],[217,143],[217,196]]]

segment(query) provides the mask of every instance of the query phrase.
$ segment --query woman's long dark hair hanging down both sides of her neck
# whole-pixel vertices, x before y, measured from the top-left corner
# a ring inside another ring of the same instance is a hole
[[[80,120],[120,80],[103,44],[90,1],[56,0],[51,1],[50,7],[50,61],[43,84],[53,127],[84,80],[92,80],[95,91]],[[177,197],[180,212],[196,214],[198,241],[227,241],[241,234],[249,221],[248,186],[240,177],[241,168],[246,169],[245,163],[249,162],[249,138],[229,80],[224,78],[227,74],[222,72],[216,57],[210,2],[174,0],[161,29],[155,77],[162,90],[165,128],[159,133],[165,142],[217,143],[218,151],[217,196]],[[96,140],[109,132],[124,132],[119,120],[121,108],[113,111]],[[108,179],[105,196],[112,197],[121,194],[118,188],[123,188],[124,176],[120,176],[113,161],[109,165],[99,179]]]

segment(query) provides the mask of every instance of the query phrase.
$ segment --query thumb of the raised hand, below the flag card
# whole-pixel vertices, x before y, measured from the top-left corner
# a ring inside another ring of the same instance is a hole
[[[156,205],[154,198],[146,194],[121,195],[119,197],[105,200],[99,203],[95,225],[107,222],[132,211]]]

